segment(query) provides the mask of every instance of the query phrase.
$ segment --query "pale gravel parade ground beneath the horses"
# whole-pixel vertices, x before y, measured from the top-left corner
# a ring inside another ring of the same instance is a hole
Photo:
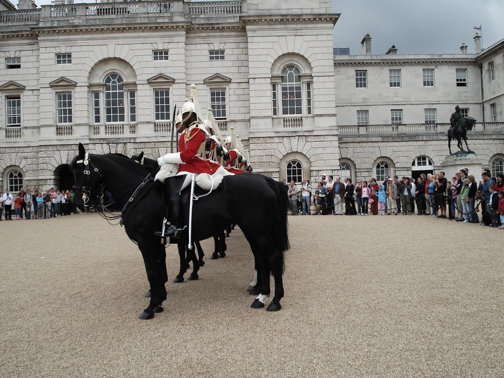
[[[148,299],[97,214],[0,222],[0,377],[503,377],[504,231],[418,216],[289,216],[283,308],[251,309],[242,233]]]

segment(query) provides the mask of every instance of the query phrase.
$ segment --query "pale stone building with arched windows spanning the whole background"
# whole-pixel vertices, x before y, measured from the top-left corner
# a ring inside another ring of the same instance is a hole
[[[334,56],[339,14],[329,0],[19,8],[0,12],[3,188],[70,187],[79,142],[96,153],[168,152],[174,105],[193,83],[255,172],[277,179],[367,178],[384,163],[411,175],[417,158],[437,169],[456,104],[482,121],[470,147],[490,165],[504,162],[504,41],[475,54],[372,55],[367,36],[362,55]],[[424,69],[433,86],[423,85]],[[427,124],[425,109],[436,111]]]

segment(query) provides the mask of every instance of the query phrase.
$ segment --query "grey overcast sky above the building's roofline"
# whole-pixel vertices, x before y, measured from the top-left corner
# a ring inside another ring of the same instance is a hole
[[[267,0],[265,0],[267,1]],[[395,45],[399,54],[457,54],[462,42],[474,53],[473,37],[482,26],[483,47],[504,38],[504,0],[331,0],[341,13],[334,28],[334,46],[360,54],[360,41],[371,35],[372,53]],[[11,0],[17,5],[17,0]],[[94,1],[76,0],[76,3]],[[35,0],[37,6],[50,0]],[[480,32],[481,34],[481,32]]]

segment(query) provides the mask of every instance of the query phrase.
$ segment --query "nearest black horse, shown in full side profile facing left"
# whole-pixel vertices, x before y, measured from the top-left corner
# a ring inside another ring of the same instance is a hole
[[[155,312],[163,310],[168,280],[165,247],[154,235],[165,213],[160,191],[146,179],[145,168],[140,164],[120,156],[88,154],[82,144],[72,168],[79,209],[84,210],[86,203],[100,203],[104,187],[122,207],[122,224],[128,236],[138,243],[150,284],[150,302],[140,319],[153,318]],[[275,290],[267,310],[282,308],[284,251],[290,247],[287,208],[286,187],[259,174],[227,176],[217,190],[193,204],[194,240],[205,240],[232,223],[243,231],[259,268],[260,294],[251,304],[253,308],[264,307],[264,299],[270,295],[270,273]],[[186,203],[185,219],[188,213]],[[178,248],[185,249],[186,239],[177,243]]]

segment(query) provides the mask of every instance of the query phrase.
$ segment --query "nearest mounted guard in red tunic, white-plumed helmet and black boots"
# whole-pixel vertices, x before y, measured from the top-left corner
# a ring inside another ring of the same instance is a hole
[[[191,183],[193,173],[213,174],[220,164],[212,160],[202,158],[198,152],[202,144],[205,144],[207,135],[205,127],[198,121],[196,105],[191,100],[185,100],[181,110],[181,119],[175,124],[177,132],[181,133],[178,140],[178,151],[168,153],[157,159],[161,166],[165,163],[179,164],[177,174],[165,179],[165,201],[168,205],[163,231],[155,234],[163,238],[182,236],[182,229],[177,227],[180,222],[180,199],[179,194]]]

